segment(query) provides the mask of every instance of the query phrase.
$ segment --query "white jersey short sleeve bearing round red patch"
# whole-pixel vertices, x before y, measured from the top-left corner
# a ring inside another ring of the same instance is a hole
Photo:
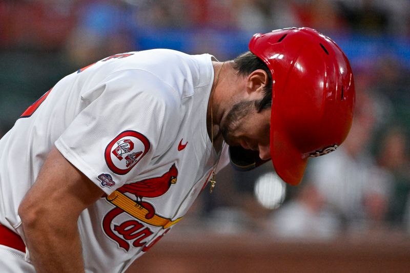
[[[116,72],[81,95],[92,101],[55,141],[63,156],[106,194],[144,172],[173,135],[172,89],[143,70]]]

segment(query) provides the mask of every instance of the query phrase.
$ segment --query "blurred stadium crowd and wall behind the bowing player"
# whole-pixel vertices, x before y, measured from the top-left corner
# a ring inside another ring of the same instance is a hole
[[[332,37],[351,60],[350,136],[311,160],[298,187],[269,163],[227,167],[128,272],[409,272],[408,0],[2,0],[0,136],[60,78],[106,56],[170,48],[228,60],[254,33],[291,26]]]

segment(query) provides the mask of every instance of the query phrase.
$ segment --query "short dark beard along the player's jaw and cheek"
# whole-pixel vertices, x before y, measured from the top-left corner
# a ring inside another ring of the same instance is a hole
[[[238,146],[239,143],[233,141],[233,133],[240,126],[244,117],[255,110],[255,101],[241,101],[229,110],[223,124],[220,124],[221,134],[225,142],[230,146]]]

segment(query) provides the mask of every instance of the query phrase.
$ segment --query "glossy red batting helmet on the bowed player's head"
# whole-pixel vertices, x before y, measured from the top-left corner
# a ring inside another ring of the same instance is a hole
[[[311,28],[257,33],[249,49],[272,73],[270,144],[275,171],[296,185],[308,158],[334,151],[350,130],[355,104],[352,69],[336,43]],[[253,165],[259,163],[260,159]]]

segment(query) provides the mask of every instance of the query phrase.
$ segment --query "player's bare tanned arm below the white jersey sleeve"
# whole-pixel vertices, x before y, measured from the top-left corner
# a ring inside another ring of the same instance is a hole
[[[77,220],[104,194],[56,148],[18,208],[37,272],[84,272]]]

